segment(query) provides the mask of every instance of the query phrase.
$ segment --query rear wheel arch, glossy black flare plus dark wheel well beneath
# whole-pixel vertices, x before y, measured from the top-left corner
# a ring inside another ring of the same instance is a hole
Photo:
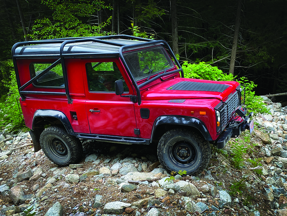
[[[34,113],[32,130],[39,126],[51,125],[63,125],[68,134],[75,136],[75,132],[68,117],[59,110],[53,109],[38,109]]]

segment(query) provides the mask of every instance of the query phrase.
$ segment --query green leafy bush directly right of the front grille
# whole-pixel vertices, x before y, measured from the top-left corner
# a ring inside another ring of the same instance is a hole
[[[245,106],[250,112],[269,113],[269,110],[262,101],[262,98],[255,95],[254,88],[256,88],[257,85],[255,85],[253,81],[249,81],[247,78],[241,77],[237,82],[245,86]]]

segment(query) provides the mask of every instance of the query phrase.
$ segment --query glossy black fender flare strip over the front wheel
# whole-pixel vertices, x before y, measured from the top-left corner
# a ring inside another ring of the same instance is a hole
[[[200,119],[182,115],[162,115],[157,117],[156,120],[154,121],[150,142],[152,142],[156,128],[161,124],[191,126],[199,130],[205,140],[212,141],[209,131],[207,130],[205,124]]]

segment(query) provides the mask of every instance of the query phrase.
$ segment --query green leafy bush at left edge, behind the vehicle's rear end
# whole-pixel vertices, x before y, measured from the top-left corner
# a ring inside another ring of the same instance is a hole
[[[12,61],[7,61],[7,63],[12,66]],[[12,67],[10,67],[12,68]],[[9,89],[9,94],[7,98],[0,103],[0,118],[1,126],[6,126],[11,123],[11,129],[20,129],[24,127],[24,119],[22,119],[21,107],[19,110],[18,100],[20,98],[18,86],[16,82],[15,72],[11,69],[10,71],[11,81],[3,81],[4,86]],[[20,106],[20,104],[19,104]]]

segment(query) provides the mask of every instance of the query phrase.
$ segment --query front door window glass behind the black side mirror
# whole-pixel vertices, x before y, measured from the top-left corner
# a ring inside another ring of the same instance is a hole
[[[129,88],[115,62],[86,63],[89,91],[115,92],[115,81],[124,81],[124,91]]]

